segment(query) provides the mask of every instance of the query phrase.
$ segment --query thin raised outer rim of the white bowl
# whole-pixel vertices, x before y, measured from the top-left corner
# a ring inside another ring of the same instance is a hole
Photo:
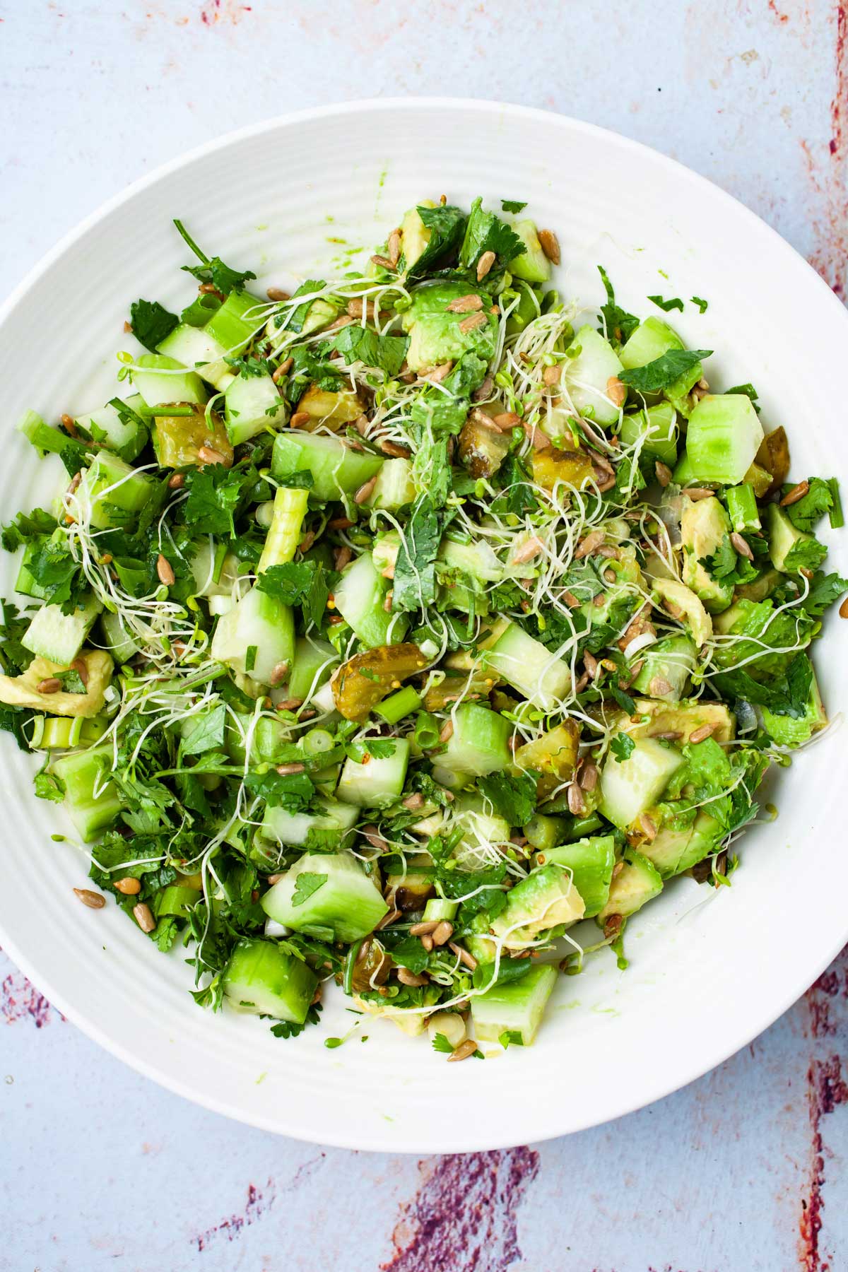
[[[848,309],[831,290],[831,287],[825,282],[825,280],[814,270],[809,261],[784,239],[773,226],[751,211],[745,204],[742,204],[734,195],[728,193],[721,186],[716,184],[709,178],[702,176],[694,169],[687,167],[676,159],[670,158],[660,150],[646,145],[645,142],[636,141],[632,137],[619,134],[613,128],[601,127],[600,125],[590,123],[584,120],[575,118],[573,116],[562,114],[556,111],[545,111],[538,107],[520,106],[511,102],[502,102],[497,99],[483,99],[483,98],[463,98],[463,97],[450,97],[450,95],[434,95],[434,97],[380,97],[380,98],[364,98],[359,100],[346,100],[336,102],[325,106],[309,107],[301,111],[286,112],[284,114],[272,116],[270,118],[261,120],[254,123],[245,125],[239,128],[233,128],[228,132],[220,134],[211,137],[207,141],[201,142],[192,149],[181,153],[179,155],[169,159],[151,172],[132,181],[123,190],[112,195],[104,202],[98,205],[92,212],[78,221],[67,233],[65,233],[58,242],[50,248],[37,262],[33,265],[24,277],[13,287],[11,293],[0,303],[0,324],[4,323],[11,312],[15,309],[18,303],[27,295],[29,289],[41,280],[52,266],[60,261],[64,254],[90,229],[97,226],[103,221],[111,212],[122,207],[125,204],[131,202],[139,193],[155,186],[169,174],[178,172],[187,164],[193,163],[197,159],[206,158],[215,154],[217,150],[225,150],[226,148],[236,144],[242,140],[252,139],[256,136],[262,136],[263,134],[275,132],[278,128],[290,128],[300,123],[309,123],[323,118],[339,118],[356,114],[380,114],[386,112],[397,112],[399,109],[406,112],[420,112],[425,113],[432,109],[462,109],[465,112],[472,112],[479,116],[491,116],[497,113],[509,113],[510,116],[526,121],[528,125],[543,122],[545,127],[554,126],[562,127],[568,132],[578,132],[587,136],[595,136],[599,141],[609,142],[614,141],[617,145],[624,146],[626,149],[634,151],[637,154],[645,154],[650,156],[651,163],[661,164],[671,172],[671,174],[678,174],[680,178],[685,177],[687,182],[694,182],[702,186],[704,190],[709,191],[711,198],[718,198],[728,209],[734,211],[734,215],[742,218],[751,226],[756,226],[759,234],[765,234],[767,238],[784,254],[787,263],[792,262],[796,267],[802,266],[802,273],[807,279],[815,279],[819,287],[820,298],[826,294],[829,300],[823,304],[830,305],[830,313],[833,314],[834,322],[845,323],[845,335],[848,336]],[[839,317],[837,317],[839,315]],[[626,1095],[624,1090],[619,1086],[617,1093],[610,1093],[609,1110],[604,1113],[603,1117],[598,1117],[595,1113],[578,1119],[573,1123],[568,1131],[561,1131],[558,1128],[552,1128],[549,1133],[544,1131],[538,1133],[539,1128],[535,1127],[534,1131],[535,1141],[542,1142],[547,1138],[556,1138],[561,1135],[571,1135],[578,1131],[589,1130],[592,1126],[600,1126],[606,1122],[612,1122],[619,1117],[624,1117],[628,1113],[636,1112],[637,1109],[645,1108],[656,1100],[664,1099],[666,1095],[671,1095],[675,1091],[681,1090],[690,1082],[723,1063],[736,1052],[746,1047],[754,1038],[768,1029],[776,1020],[779,1019],[805,992],[806,990],[817,979],[819,976],[825,971],[825,968],[833,962],[833,959],[839,954],[845,943],[848,941],[848,918],[845,921],[845,927],[842,932],[834,934],[834,940],[826,943],[826,955],[824,958],[816,959],[815,964],[802,964],[802,969],[792,981],[784,981],[784,990],[778,996],[769,996],[768,1005],[760,1007],[759,1010],[754,1005],[751,1013],[751,1020],[749,1028],[736,1035],[732,1047],[728,1049],[726,1040],[717,1042],[712,1049],[706,1049],[702,1057],[698,1058],[695,1063],[688,1066],[684,1074],[675,1079],[673,1085],[669,1085],[666,1079],[657,1079],[653,1085],[648,1085],[647,1089],[643,1085],[641,1088],[641,1094],[636,1098]],[[355,1133],[327,1133],[324,1130],[319,1141],[315,1141],[309,1130],[303,1126],[281,1128],[277,1118],[263,1117],[259,1113],[253,1113],[239,1108],[236,1104],[228,1100],[222,1094],[220,1098],[209,1098],[200,1094],[197,1090],[192,1089],[188,1082],[181,1081],[178,1077],[167,1072],[156,1062],[146,1061],[141,1054],[125,1047],[122,1043],[116,1042],[109,1037],[109,1034],[100,1028],[95,1019],[89,1018],[84,1010],[78,1011],[75,1006],[69,1004],[62,992],[53,992],[50,978],[42,976],[42,973],[34,967],[33,960],[29,955],[24,953],[23,949],[18,946],[14,940],[8,940],[5,934],[0,931],[0,946],[10,957],[19,971],[29,979],[32,983],[44,995],[52,1006],[55,1006],[64,1016],[66,1016],[76,1028],[79,1028],[86,1037],[98,1046],[103,1047],[107,1052],[116,1056],[118,1060],[123,1061],[132,1070],[155,1081],[158,1085],[165,1088],[174,1094],[191,1100],[193,1104],[200,1104],[201,1107],[210,1109],[211,1112],[219,1113],[225,1117],[234,1118],[244,1124],[254,1126],[263,1131],[271,1131],[276,1135],[286,1135],[290,1138],[300,1140],[304,1142],[320,1142],[333,1147],[353,1149],[360,1151],[392,1151],[392,1152],[432,1152],[431,1144],[422,1145],[417,1140],[406,1138],[395,1145],[386,1145],[385,1140],[376,1135],[355,1135]],[[777,1007],[774,1004],[778,1004]],[[615,1098],[618,1095],[618,1098]],[[500,1135],[492,1133],[484,1137],[474,1138],[474,1142],[469,1145],[468,1140],[463,1136],[448,1137],[453,1142],[448,1144],[441,1151],[446,1152],[465,1152],[465,1151],[487,1151],[492,1149],[502,1149],[515,1144],[515,1138],[509,1133],[505,1136],[503,1132]]]

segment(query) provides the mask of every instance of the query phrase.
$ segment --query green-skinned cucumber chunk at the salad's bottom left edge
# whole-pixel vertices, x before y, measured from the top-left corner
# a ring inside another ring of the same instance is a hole
[[[231,1007],[301,1025],[318,988],[313,969],[285,954],[273,941],[240,940],[224,971],[224,995]]]

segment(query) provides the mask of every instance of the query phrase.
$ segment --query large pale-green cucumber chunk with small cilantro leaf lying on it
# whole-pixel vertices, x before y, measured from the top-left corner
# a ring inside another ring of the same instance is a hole
[[[350,852],[308,852],[266,892],[261,904],[270,918],[295,931],[332,927],[337,941],[367,936],[389,912]]]

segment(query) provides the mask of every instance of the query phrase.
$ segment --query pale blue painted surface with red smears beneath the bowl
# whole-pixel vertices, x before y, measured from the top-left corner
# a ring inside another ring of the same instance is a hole
[[[848,6],[834,0],[4,0],[0,19],[0,291],[207,137],[444,92],[646,141],[848,290]],[[750,1048],[620,1122],[505,1152],[360,1155],[159,1090],[0,954],[0,1269],[839,1272],[847,1051],[843,951]]]

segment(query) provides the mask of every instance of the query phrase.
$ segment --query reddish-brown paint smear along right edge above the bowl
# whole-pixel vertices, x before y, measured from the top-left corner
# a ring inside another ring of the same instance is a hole
[[[848,295],[848,4],[837,5],[835,85],[830,102],[828,167],[819,170],[806,142],[801,142],[810,177],[824,197],[824,223],[816,226],[821,243],[810,257],[840,299]]]

